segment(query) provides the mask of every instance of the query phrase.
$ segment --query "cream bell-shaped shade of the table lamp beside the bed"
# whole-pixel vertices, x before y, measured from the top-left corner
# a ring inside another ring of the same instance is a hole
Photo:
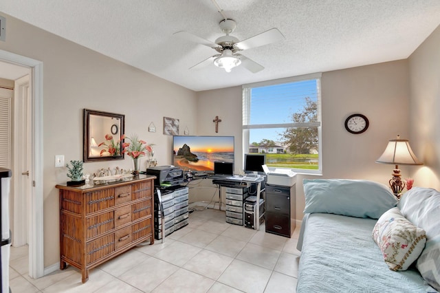
[[[423,165],[412,152],[409,140],[397,139],[390,140],[384,153],[376,160],[377,163],[395,165]]]

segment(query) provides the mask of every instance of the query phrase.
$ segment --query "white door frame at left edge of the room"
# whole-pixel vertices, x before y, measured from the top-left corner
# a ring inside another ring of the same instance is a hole
[[[25,56],[0,50],[0,61],[32,69],[32,178],[29,215],[29,276],[44,274],[43,249],[43,63]]]

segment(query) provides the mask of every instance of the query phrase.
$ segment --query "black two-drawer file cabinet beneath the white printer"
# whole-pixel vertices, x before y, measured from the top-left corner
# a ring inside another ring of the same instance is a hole
[[[296,226],[294,186],[266,185],[266,232],[292,237]]]

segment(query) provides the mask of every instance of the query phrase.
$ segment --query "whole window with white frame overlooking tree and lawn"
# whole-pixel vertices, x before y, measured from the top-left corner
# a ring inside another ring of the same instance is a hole
[[[321,74],[243,85],[243,153],[270,167],[321,173]]]

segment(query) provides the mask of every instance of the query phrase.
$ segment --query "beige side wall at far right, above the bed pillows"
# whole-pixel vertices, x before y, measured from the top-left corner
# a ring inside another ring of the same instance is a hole
[[[415,185],[440,188],[440,27],[409,58],[410,140],[424,165],[413,167]]]

